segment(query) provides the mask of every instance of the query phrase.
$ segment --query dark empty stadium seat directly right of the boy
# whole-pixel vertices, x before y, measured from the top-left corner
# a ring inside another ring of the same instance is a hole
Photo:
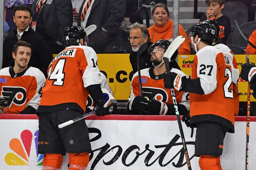
[[[227,15],[231,23],[231,31],[236,28],[235,20],[238,25],[247,22],[247,6],[239,1],[229,1],[225,3],[224,9],[221,11],[222,14]]]

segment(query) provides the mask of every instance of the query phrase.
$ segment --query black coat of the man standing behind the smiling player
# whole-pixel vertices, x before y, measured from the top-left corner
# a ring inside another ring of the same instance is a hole
[[[18,41],[16,35],[17,30],[14,30],[13,34],[8,35],[8,37],[4,39],[2,68],[14,66],[12,50],[13,46]],[[32,46],[32,55],[28,66],[38,68],[44,73],[44,76],[47,77],[47,69],[53,56],[44,38],[29,28],[28,31],[24,31],[20,40],[26,41]]]

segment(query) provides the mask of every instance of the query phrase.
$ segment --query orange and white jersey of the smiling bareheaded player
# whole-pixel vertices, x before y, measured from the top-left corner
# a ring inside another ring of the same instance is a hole
[[[7,101],[10,114],[19,114],[27,106],[37,109],[44,82],[44,74],[35,67],[28,67],[17,74],[13,67],[0,70],[1,96]]]

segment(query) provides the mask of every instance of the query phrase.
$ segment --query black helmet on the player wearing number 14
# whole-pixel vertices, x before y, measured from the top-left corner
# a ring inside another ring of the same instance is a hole
[[[63,41],[66,47],[70,45],[78,45],[80,38],[85,42],[86,33],[81,26],[66,27],[63,33]]]

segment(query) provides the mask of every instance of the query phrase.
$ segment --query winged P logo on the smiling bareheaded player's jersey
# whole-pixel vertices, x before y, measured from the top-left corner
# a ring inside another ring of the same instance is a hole
[[[8,106],[14,103],[21,106],[26,102],[27,91],[23,87],[2,86],[1,96],[7,101]]]

